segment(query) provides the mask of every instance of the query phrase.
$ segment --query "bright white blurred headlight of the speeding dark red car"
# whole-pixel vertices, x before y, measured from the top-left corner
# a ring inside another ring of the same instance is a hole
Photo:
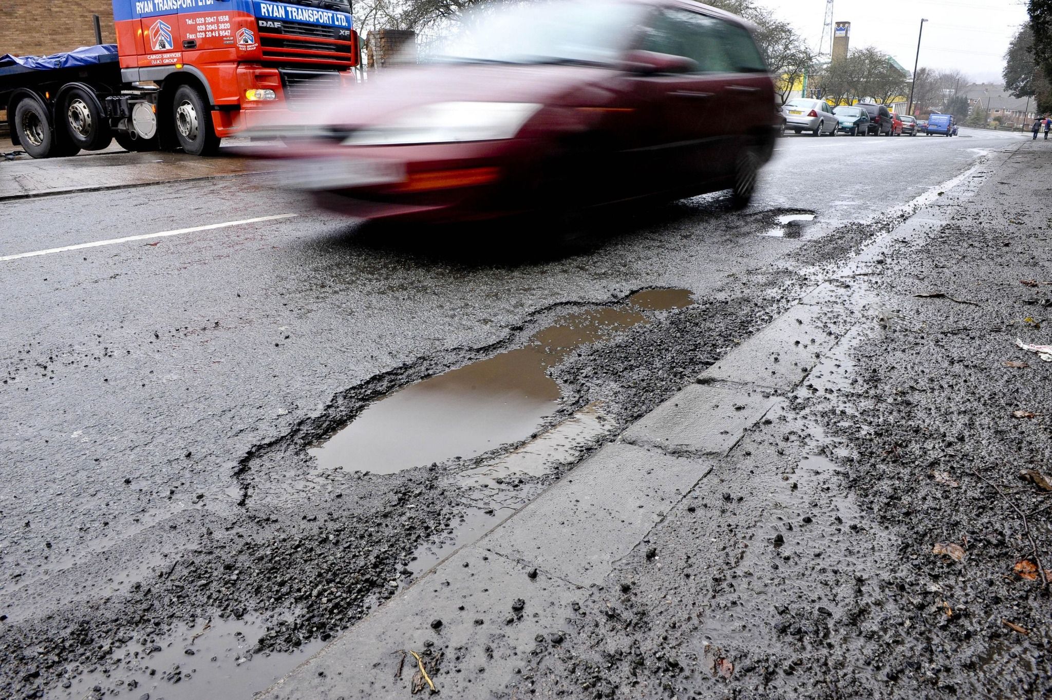
[[[510,139],[537,114],[531,102],[437,102],[353,132],[344,145],[375,146]]]

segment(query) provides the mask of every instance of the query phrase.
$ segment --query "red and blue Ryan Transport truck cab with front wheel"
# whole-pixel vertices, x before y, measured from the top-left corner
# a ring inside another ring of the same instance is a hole
[[[348,0],[113,0],[121,78],[161,87],[158,126],[187,153],[351,80]],[[140,136],[145,136],[141,134]]]

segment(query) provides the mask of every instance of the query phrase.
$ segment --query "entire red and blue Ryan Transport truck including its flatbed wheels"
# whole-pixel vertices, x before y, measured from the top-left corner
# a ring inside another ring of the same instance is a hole
[[[353,81],[349,0],[113,0],[117,45],[0,56],[0,109],[34,158],[214,153],[223,137]],[[295,122],[291,114],[281,121]]]

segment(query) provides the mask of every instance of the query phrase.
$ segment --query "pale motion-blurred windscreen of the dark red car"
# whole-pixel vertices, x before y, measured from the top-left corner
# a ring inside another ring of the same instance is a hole
[[[540,2],[489,6],[424,49],[427,62],[612,63],[646,17],[636,3]]]

